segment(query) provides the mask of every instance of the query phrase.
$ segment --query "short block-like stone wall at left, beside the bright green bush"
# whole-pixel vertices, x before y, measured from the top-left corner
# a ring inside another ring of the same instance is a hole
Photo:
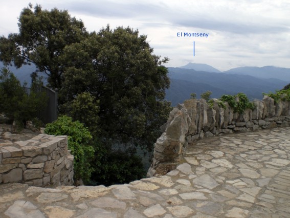
[[[0,143],[0,184],[73,185],[74,157],[67,136],[39,134],[31,140]]]

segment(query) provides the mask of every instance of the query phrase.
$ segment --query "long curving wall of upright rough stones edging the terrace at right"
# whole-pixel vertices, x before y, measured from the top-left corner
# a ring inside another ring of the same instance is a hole
[[[217,100],[212,108],[203,99],[190,99],[177,105],[161,127],[163,134],[154,145],[147,176],[173,169],[181,161],[187,145],[203,137],[290,126],[290,102],[275,103],[273,98],[264,96],[262,101],[253,103],[255,109],[246,109],[242,114],[234,113],[228,103],[225,108],[219,107]]]

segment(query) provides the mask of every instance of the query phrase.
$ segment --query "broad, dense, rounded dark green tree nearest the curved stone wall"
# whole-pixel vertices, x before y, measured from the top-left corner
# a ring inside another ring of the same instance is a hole
[[[100,136],[107,145],[153,148],[170,111],[170,103],[163,101],[170,81],[163,66],[168,58],[154,55],[145,35],[107,26],[67,46],[62,61],[68,65],[62,101],[83,92],[95,96]]]

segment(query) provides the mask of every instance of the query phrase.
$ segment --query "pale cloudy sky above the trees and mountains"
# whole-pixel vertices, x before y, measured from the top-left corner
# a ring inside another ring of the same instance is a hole
[[[18,32],[18,17],[29,3],[68,10],[90,32],[107,24],[112,29],[138,29],[147,35],[154,54],[170,58],[167,67],[192,62],[221,71],[244,66],[290,68],[289,0],[0,0],[0,35]],[[180,32],[182,36],[177,36]]]

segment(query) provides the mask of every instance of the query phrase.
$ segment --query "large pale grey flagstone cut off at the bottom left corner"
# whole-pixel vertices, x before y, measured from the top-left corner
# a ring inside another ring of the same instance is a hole
[[[28,201],[15,201],[14,204],[5,211],[5,215],[10,218],[45,218],[40,210]]]

